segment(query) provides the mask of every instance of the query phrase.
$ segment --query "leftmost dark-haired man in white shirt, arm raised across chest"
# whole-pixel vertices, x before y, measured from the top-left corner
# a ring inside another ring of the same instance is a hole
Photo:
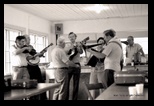
[[[29,73],[27,70],[26,57],[29,53],[23,53],[25,50],[30,51],[30,47],[24,47],[26,38],[24,36],[16,37],[16,44],[11,47],[11,65],[12,65],[12,79],[29,79]]]

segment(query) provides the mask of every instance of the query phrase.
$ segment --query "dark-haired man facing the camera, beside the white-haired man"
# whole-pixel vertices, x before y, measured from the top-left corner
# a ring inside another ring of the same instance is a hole
[[[73,61],[75,64],[78,64],[80,66],[80,54],[83,53],[82,46],[80,43],[75,42],[77,35],[73,32],[70,32],[68,35],[69,40],[71,41],[70,45],[65,47],[65,51],[68,54],[71,51],[74,51],[74,54],[71,54],[69,56],[72,56],[70,58],[71,61]],[[78,96],[78,89],[79,89],[79,79],[80,79],[80,72],[81,67],[79,68],[71,68],[69,69],[69,75],[68,80],[70,82],[71,78],[73,77],[73,92],[72,92],[72,100],[77,100]]]

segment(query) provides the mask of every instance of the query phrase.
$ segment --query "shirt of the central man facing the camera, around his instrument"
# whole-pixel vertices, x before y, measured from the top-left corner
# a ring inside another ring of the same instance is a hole
[[[77,43],[75,43],[77,44]],[[74,47],[74,45],[72,43],[67,44],[67,46],[65,47],[65,52],[67,53],[70,49],[72,49]],[[67,55],[69,57],[69,55]],[[80,53],[77,53],[73,60],[74,63],[79,63],[80,62]]]

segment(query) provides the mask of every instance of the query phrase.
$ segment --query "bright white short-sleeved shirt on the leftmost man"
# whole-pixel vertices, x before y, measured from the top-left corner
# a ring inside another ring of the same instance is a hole
[[[16,51],[18,48],[16,45],[11,46],[11,65],[12,66],[27,66],[27,60],[26,57],[29,55],[29,53],[20,53],[20,54],[13,54],[14,51]]]

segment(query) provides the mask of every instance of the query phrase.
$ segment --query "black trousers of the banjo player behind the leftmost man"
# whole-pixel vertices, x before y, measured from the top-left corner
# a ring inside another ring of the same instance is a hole
[[[28,72],[30,75],[30,79],[36,79],[38,81],[38,83],[45,83],[45,80],[43,79],[41,70],[38,65],[36,65],[36,66],[28,65],[27,69],[28,69]],[[38,99],[46,100],[47,99],[46,92],[44,92],[40,95],[37,95],[37,96],[32,96],[30,98],[30,100],[38,100]]]

